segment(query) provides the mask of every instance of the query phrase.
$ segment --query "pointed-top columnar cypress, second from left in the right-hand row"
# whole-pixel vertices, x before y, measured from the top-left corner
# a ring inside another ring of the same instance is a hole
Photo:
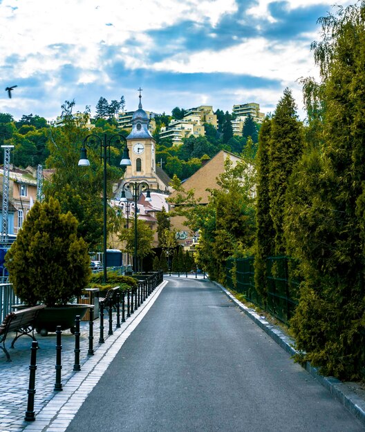
[[[269,195],[274,226],[274,253],[285,255],[283,215],[288,179],[303,151],[302,125],[297,118],[292,92],[286,88],[272,117],[270,131]]]

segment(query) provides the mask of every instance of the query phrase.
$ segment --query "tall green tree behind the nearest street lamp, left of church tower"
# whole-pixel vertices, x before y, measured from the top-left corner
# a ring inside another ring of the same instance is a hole
[[[73,107],[75,101],[65,101],[62,106],[62,120],[64,126],[53,128],[48,149],[50,156],[47,159],[48,166],[57,168],[52,181],[45,184],[46,198],[52,196],[59,199],[62,211],[68,210],[77,217],[77,227],[81,235],[88,243],[91,250],[101,250],[103,204],[102,184],[103,166],[100,164],[100,146],[90,143],[88,159],[90,168],[78,167],[80,148],[82,141],[89,131],[82,127],[82,119],[85,123],[88,119],[88,111],[79,115],[77,124],[73,120]],[[113,149],[112,149],[113,153]],[[107,193],[111,194],[111,182],[120,177],[120,171],[107,166]],[[111,209],[108,220],[110,220]],[[113,212],[114,213],[114,212]],[[109,226],[111,228],[111,226]]]

